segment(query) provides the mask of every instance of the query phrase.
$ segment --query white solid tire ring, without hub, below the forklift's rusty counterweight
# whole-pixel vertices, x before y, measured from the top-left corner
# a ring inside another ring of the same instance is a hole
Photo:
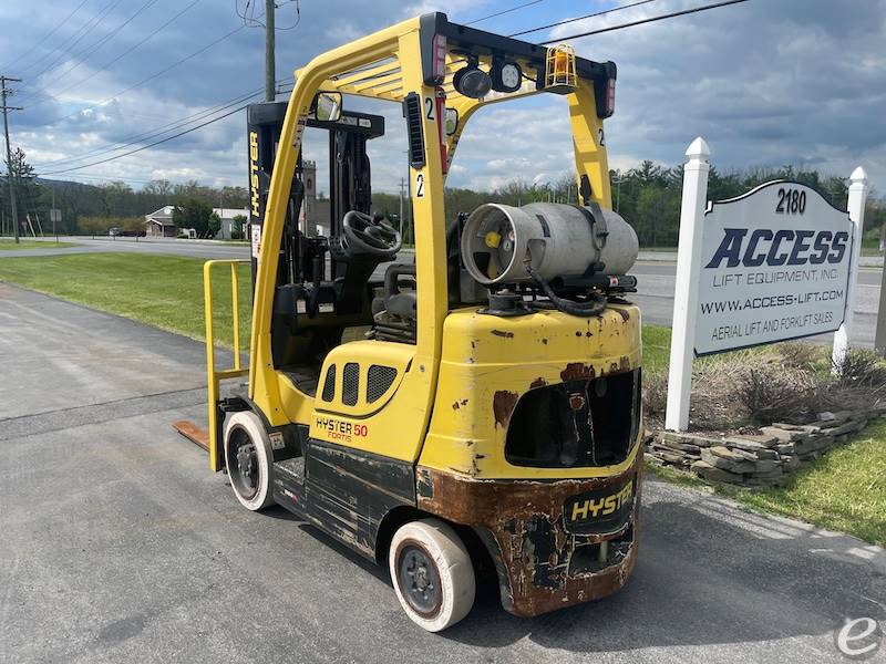
[[[423,616],[403,596],[398,574],[398,558],[402,544],[416,543],[430,554],[440,575],[442,601],[436,613]],[[388,554],[396,599],[410,620],[429,632],[440,632],[462,620],[474,605],[476,581],[471,554],[455,530],[439,519],[410,521],[400,527],[391,540]]]

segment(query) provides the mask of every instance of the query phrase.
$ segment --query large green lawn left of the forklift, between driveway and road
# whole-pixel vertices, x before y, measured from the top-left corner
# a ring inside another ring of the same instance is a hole
[[[0,261],[0,279],[116,313],[193,339],[205,339],[202,259],[146,253],[81,253]],[[230,269],[213,280],[215,336],[233,346]],[[251,279],[238,267],[240,341],[249,345]]]

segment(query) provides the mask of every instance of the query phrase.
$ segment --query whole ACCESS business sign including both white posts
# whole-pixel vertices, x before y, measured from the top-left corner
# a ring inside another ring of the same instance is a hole
[[[705,206],[710,151],[697,138],[687,155],[664,417],[678,432],[689,426],[696,355],[836,331],[843,357],[867,193],[859,167],[848,212],[786,180]]]

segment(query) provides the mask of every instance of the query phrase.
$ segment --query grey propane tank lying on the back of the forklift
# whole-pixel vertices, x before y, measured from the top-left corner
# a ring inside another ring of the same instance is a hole
[[[488,203],[471,212],[462,231],[464,266],[484,286],[532,281],[526,260],[546,280],[581,277],[595,263],[604,263],[606,274],[626,274],[638,250],[633,228],[596,203]]]

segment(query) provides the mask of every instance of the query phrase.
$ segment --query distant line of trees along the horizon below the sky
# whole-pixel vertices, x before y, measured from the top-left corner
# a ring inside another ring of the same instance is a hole
[[[16,174],[19,215],[23,219],[30,215],[32,221],[39,217],[44,231],[49,232],[49,209],[61,210],[60,234],[104,232],[111,226],[124,229],[135,227],[137,219],[144,219],[163,206],[176,207],[175,222],[182,228],[196,228],[199,236],[212,237],[217,230],[216,219],[212,217],[213,207],[248,207],[246,187],[208,187],[196,180],[173,184],[157,179],[141,189],[133,189],[122,181],[84,185],[73,181],[38,178],[28,164],[25,155],[17,149],[12,156],[12,170]],[[642,162],[628,170],[610,170],[612,208],[631,226],[641,247],[674,247],[679,232],[680,197],[683,167],[664,167],[653,162]],[[711,167],[708,198],[722,200],[740,196],[758,185],[773,180],[789,179],[814,187],[833,205],[845,209],[847,183],[843,178],[823,174],[815,169],[783,166],[781,168],[749,168],[720,173]],[[322,195],[321,195],[322,196]],[[576,183],[573,176],[565,175],[552,183],[529,183],[514,179],[493,189],[475,190],[450,187],[445,193],[445,208],[453,219],[459,212],[471,212],[484,203],[526,205],[537,201],[576,203]],[[404,240],[414,241],[409,200],[404,201],[402,220]],[[400,197],[375,191],[372,195],[374,211],[385,214],[400,224]],[[0,210],[7,222],[7,234],[11,229],[7,187],[0,187]],[[104,220],[104,221],[102,221]],[[865,215],[866,245],[876,246],[876,239],[886,224],[886,199],[875,193],[868,197]],[[236,229],[235,229],[236,231]]]

